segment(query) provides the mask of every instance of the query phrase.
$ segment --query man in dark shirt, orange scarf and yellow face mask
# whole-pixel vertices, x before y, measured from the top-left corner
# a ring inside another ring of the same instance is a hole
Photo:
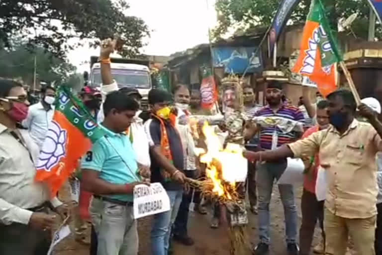
[[[152,118],[145,123],[145,129],[150,143],[151,182],[162,183],[171,205],[170,211],[154,215],[151,251],[153,255],[167,255],[171,227],[182,202],[186,178],[184,155],[175,118],[169,108],[170,94],[153,89],[148,99]]]

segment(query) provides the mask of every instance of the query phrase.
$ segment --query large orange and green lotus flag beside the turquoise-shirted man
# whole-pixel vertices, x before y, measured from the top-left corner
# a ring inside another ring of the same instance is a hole
[[[35,180],[47,183],[52,197],[55,196],[92,142],[103,135],[103,129],[83,103],[68,87],[61,86],[57,91],[53,120],[40,151]]]

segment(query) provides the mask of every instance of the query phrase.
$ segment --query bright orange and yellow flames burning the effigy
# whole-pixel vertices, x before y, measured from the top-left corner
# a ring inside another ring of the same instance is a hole
[[[242,163],[246,163],[245,158],[242,156],[242,149],[239,145],[231,143],[228,143],[226,148],[223,149],[214,128],[209,126],[207,122],[204,123],[202,131],[207,151],[201,154],[200,162],[206,164],[205,173],[213,184],[212,193],[219,198],[232,200],[237,177],[242,175],[238,167],[242,168]],[[245,175],[247,174],[246,171],[245,166]]]

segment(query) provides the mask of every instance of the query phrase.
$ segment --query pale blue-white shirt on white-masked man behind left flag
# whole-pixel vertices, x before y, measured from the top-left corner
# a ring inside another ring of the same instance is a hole
[[[45,139],[49,124],[53,119],[54,107],[51,106],[49,111],[46,111],[41,102],[29,107],[28,116],[21,123],[24,128],[28,128],[30,136],[39,148]]]

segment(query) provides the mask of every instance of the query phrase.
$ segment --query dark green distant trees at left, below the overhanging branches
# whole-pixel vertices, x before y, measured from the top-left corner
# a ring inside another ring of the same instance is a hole
[[[25,43],[14,42],[13,45],[13,50],[0,50],[0,77],[21,79],[28,85],[33,84],[35,59],[39,81],[61,83],[76,71],[76,67],[42,47],[36,47],[31,52]]]

